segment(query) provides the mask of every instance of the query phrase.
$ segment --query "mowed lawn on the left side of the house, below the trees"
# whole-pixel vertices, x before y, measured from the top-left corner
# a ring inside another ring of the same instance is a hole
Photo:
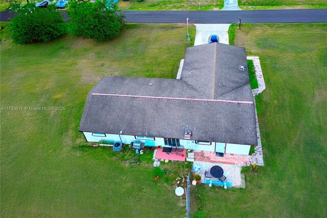
[[[78,127],[103,76],[175,78],[192,43],[185,25],[126,25],[109,42],[2,42],[1,107],[65,110],[1,111],[1,216],[183,217],[184,201],[154,180],[152,164],[130,167],[111,147],[83,146]]]

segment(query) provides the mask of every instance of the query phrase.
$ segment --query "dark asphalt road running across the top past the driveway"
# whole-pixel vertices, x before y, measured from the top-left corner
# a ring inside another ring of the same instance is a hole
[[[255,10],[255,11],[121,11],[126,22],[136,23],[300,23],[327,22],[327,9]],[[65,16],[66,12],[63,12]],[[13,14],[0,12],[0,21]]]

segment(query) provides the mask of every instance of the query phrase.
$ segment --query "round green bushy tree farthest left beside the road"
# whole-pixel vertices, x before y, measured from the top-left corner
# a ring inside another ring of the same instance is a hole
[[[36,8],[35,3],[13,4],[17,15],[10,21],[12,40],[20,44],[47,42],[66,34],[63,16],[55,11],[54,5]]]

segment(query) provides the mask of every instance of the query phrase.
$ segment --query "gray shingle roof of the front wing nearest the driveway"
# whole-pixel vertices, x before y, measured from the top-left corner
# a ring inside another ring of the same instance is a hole
[[[188,47],[180,79],[208,98],[226,95],[250,82],[245,49],[221,43]]]

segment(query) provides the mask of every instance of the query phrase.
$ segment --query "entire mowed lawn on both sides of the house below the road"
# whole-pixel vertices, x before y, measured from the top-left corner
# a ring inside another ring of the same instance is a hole
[[[192,187],[192,216],[326,217],[327,25],[232,28],[235,44],[261,60],[265,166],[246,173],[245,189]],[[184,201],[165,178],[153,180],[151,164],[130,167],[84,146],[78,127],[101,77],[175,78],[191,44],[184,25],[128,25],[110,42],[3,42],[1,106],[66,109],[1,111],[1,215],[184,217]]]

